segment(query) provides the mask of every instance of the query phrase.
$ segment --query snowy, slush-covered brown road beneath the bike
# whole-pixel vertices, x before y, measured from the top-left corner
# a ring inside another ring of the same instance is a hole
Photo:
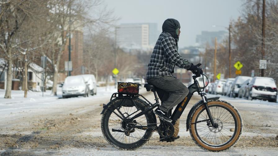
[[[158,142],[154,133],[141,149],[120,151],[105,141],[100,128],[102,103],[116,92],[113,86],[107,91],[100,87],[96,96],[88,98],[59,99],[50,92],[45,97],[29,92],[24,99],[22,91],[16,92],[13,99],[0,98],[0,155],[276,155],[278,151],[278,103],[221,96],[239,110],[244,129],[233,148],[214,153],[200,149],[186,132],[186,115],[200,100],[194,95],[180,119],[180,139]],[[0,90],[0,97],[3,93]],[[144,89],[140,93],[153,101]]]

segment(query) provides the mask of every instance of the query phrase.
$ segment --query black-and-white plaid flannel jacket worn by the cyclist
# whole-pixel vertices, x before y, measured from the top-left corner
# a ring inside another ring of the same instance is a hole
[[[188,69],[192,63],[183,59],[177,49],[174,37],[170,33],[162,32],[151,54],[146,79],[155,76],[173,76],[175,65]],[[188,64],[184,65],[184,61],[187,61]]]

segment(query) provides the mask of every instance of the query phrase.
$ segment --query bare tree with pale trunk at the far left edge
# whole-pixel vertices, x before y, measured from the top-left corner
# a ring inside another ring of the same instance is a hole
[[[7,89],[5,98],[11,98],[11,80],[12,80],[12,61],[15,58],[15,50],[18,45],[22,44],[16,42],[16,34],[20,31],[22,25],[25,24],[26,17],[32,13],[30,7],[31,1],[6,1],[0,3],[0,49],[4,53],[5,59],[8,62],[7,69]]]

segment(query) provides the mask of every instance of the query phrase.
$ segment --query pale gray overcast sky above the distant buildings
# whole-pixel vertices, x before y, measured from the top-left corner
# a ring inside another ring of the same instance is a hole
[[[108,9],[120,17],[121,23],[157,23],[167,18],[177,19],[181,24],[179,46],[195,44],[196,35],[201,31],[225,30],[230,19],[240,16],[242,0],[105,0]]]

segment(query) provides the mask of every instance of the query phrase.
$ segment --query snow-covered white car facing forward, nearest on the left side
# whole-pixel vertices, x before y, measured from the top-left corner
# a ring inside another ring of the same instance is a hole
[[[62,98],[89,95],[89,87],[82,76],[68,76],[62,86]]]

